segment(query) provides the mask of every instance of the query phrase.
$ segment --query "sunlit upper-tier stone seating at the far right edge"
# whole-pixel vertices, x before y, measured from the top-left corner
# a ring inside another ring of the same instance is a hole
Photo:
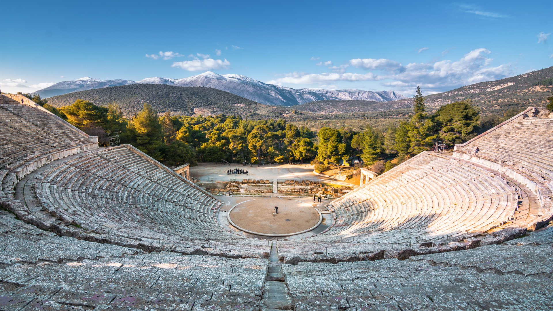
[[[453,155],[468,159],[525,184],[540,201],[529,229],[545,224],[553,214],[553,118],[545,108],[530,107],[464,144]],[[476,148],[479,152],[476,153]]]

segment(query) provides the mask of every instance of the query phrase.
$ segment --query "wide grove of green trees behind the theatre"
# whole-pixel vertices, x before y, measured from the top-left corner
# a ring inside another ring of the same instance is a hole
[[[27,95],[29,96],[29,95]],[[385,123],[383,130],[367,126],[322,127],[313,132],[283,119],[247,120],[239,116],[160,115],[145,103],[132,118],[124,118],[116,103],[96,106],[85,100],[54,108],[40,96],[29,96],[39,105],[83,131],[98,136],[103,146],[108,132],[119,131],[121,143],[129,143],[166,165],[201,162],[285,163],[311,162],[319,167],[361,159],[381,173],[409,157],[432,149],[436,139],[462,143],[510,117],[481,120],[471,100],[448,103],[434,113],[426,110],[420,87],[413,112],[401,122]]]

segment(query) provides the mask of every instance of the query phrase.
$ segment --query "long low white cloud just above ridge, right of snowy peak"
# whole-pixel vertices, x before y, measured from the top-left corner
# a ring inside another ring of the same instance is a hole
[[[325,72],[323,74],[305,74],[304,72],[291,72],[285,74],[284,77],[270,80],[268,84],[278,84],[283,83],[287,84],[315,84],[320,82],[328,81],[367,81],[367,80],[380,80],[379,76],[368,72],[367,74],[353,74],[348,73],[337,73],[337,72]]]

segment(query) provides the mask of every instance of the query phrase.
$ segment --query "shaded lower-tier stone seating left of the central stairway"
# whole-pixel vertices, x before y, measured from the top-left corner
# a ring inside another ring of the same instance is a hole
[[[102,239],[118,244],[138,239],[143,245],[176,247],[183,253],[205,246],[225,256],[238,250],[267,256],[266,241],[222,230],[215,198],[132,147],[101,148],[34,174],[41,174],[35,193],[45,210]]]

